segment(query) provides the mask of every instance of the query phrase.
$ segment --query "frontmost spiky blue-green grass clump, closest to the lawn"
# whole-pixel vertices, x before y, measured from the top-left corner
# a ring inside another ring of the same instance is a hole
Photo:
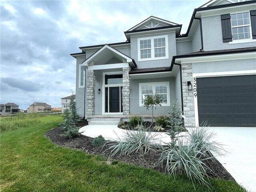
[[[184,145],[182,141],[178,140],[178,147],[169,145],[162,148],[158,164],[161,164],[162,167],[165,164],[165,171],[174,179],[176,174],[185,174],[193,185],[195,182],[199,182],[210,188],[210,180],[206,174],[206,169],[209,168],[202,162],[205,159],[200,158],[201,154],[202,152],[197,150],[196,144]]]

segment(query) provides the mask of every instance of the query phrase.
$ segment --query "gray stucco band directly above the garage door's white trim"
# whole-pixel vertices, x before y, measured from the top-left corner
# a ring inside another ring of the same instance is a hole
[[[227,71],[255,70],[255,59],[216,61],[216,62],[200,62],[192,64],[193,73],[212,73]]]

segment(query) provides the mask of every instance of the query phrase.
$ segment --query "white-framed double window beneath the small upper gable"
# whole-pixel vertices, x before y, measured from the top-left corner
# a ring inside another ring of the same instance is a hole
[[[138,38],[138,61],[168,59],[168,37]]]

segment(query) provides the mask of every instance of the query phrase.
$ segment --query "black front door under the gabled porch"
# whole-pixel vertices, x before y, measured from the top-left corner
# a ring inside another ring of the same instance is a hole
[[[109,112],[118,113],[120,112],[120,88],[110,87],[109,88]]]

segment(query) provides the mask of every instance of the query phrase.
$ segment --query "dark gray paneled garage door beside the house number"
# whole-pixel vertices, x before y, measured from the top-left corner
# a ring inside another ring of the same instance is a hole
[[[256,126],[256,75],[197,78],[199,124]]]

